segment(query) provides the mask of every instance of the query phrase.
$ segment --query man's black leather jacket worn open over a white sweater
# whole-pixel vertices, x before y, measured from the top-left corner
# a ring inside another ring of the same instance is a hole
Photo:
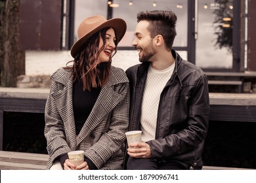
[[[207,76],[175,50],[172,54],[175,69],[161,93],[156,140],[147,143],[153,159],[171,159],[186,167],[202,167],[210,113]],[[140,108],[149,65],[150,62],[142,63],[126,71],[131,89],[130,131],[140,129]]]

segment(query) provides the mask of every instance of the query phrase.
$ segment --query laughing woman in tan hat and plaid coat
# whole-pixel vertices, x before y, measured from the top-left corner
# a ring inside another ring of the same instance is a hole
[[[122,169],[129,125],[129,81],[111,65],[126,24],[91,16],[81,22],[71,49],[73,65],[52,76],[45,106],[47,169]],[[84,150],[75,167],[68,152]]]

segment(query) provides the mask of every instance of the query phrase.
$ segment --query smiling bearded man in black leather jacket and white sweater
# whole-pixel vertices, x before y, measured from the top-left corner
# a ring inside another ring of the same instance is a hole
[[[141,64],[127,69],[131,87],[127,169],[202,169],[209,122],[209,92],[203,71],[172,49],[177,16],[139,12],[133,46]]]

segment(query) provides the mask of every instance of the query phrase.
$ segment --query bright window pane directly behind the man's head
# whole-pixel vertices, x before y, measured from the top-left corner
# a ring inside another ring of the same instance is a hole
[[[119,46],[131,46],[134,31],[137,25],[137,13],[146,10],[173,10],[177,15],[177,37],[173,46],[187,46],[188,35],[188,3],[187,0],[137,0],[137,1],[114,1],[119,7],[113,8],[113,18],[123,18],[127,22],[127,33]],[[132,3],[131,3],[132,2]]]

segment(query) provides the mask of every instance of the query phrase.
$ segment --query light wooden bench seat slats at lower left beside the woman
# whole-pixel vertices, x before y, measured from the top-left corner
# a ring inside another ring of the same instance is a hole
[[[44,170],[48,154],[0,151],[0,170]]]

